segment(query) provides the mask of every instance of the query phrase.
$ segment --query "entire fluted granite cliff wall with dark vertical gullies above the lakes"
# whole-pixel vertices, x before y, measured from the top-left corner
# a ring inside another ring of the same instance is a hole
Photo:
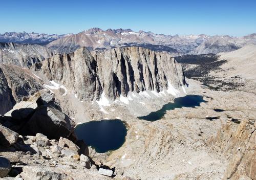
[[[92,54],[80,48],[45,60],[41,69],[82,100],[99,98],[103,92],[111,99],[128,92],[160,92],[169,85],[179,88],[185,83],[182,68],[172,56],[138,47]]]

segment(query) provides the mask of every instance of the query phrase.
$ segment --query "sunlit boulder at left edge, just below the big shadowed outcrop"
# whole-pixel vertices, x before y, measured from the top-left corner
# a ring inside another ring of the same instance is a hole
[[[11,129],[0,125],[0,145],[9,147],[13,145],[18,139],[18,133]]]

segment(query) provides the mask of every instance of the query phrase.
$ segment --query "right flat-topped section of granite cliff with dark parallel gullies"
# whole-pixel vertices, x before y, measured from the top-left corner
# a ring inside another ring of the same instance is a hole
[[[160,92],[168,83],[179,88],[185,82],[180,64],[168,53],[144,48],[116,48],[94,54],[104,93],[111,98],[149,90]]]

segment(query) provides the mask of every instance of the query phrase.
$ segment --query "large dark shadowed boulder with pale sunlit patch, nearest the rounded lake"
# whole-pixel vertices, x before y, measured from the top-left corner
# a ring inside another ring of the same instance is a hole
[[[48,106],[39,106],[30,120],[26,123],[23,133],[35,136],[42,133],[49,139],[68,138],[74,131],[75,123],[60,110]]]

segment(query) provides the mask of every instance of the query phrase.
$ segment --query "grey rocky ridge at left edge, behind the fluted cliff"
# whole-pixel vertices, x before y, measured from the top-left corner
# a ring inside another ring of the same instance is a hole
[[[27,67],[53,55],[53,51],[38,44],[0,43],[0,63]]]

